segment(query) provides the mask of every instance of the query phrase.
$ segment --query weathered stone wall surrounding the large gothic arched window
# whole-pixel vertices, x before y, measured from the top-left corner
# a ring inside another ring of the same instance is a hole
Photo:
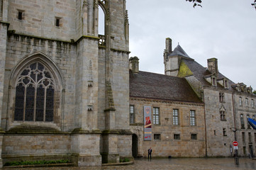
[[[15,72],[14,68],[22,60],[26,59],[33,54],[38,54],[41,52],[42,55],[52,60],[52,65],[56,65],[57,69],[60,69],[60,74],[63,76],[63,81],[61,84],[65,88],[65,101],[60,100],[59,122],[62,124],[62,127],[65,127],[65,130],[74,129],[73,115],[74,115],[74,81],[75,81],[75,60],[76,60],[76,47],[71,43],[60,42],[56,40],[48,40],[41,38],[33,38],[23,35],[9,35],[6,45],[6,64],[5,64],[5,80],[4,80],[4,104],[3,104],[3,114],[2,114],[2,128],[6,128],[6,120],[13,114],[11,108],[7,106],[12,106],[13,103],[10,103],[14,96],[9,96],[9,80],[11,73]],[[43,59],[43,58],[42,58]],[[16,79],[16,77],[12,77]],[[12,89],[15,89],[15,84],[12,84]],[[62,89],[60,89],[60,94]],[[63,97],[63,96],[62,96]],[[11,101],[10,101],[11,99]],[[64,98],[61,98],[64,100]],[[9,104],[8,104],[9,102]],[[64,108],[65,111],[62,112]],[[6,112],[7,111],[7,112]],[[9,114],[9,115],[7,115]],[[64,119],[62,119],[65,117]],[[11,117],[10,117],[11,118]],[[10,124],[11,125],[11,124]],[[60,126],[59,126],[60,127]],[[11,126],[9,127],[11,128]],[[61,127],[60,127],[61,128]]]

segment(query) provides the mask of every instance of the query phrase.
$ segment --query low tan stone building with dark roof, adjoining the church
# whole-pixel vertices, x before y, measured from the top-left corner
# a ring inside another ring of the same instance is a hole
[[[153,157],[206,156],[204,103],[184,78],[139,71],[138,57],[130,58],[130,130],[133,157],[148,157],[150,147]]]

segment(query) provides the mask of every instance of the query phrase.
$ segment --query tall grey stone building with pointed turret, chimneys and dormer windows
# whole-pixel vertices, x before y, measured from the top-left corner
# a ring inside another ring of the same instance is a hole
[[[235,84],[218,72],[218,60],[208,59],[208,67],[194,61],[178,45],[172,51],[172,40],[166,39],[165,74],[184,77],[204,101],[206,118],[206,155],[228,157],[232,142],[238,140],[238,154],[256,155],[256,133],[247,124],[255,119],[256,96],[245,84]]]

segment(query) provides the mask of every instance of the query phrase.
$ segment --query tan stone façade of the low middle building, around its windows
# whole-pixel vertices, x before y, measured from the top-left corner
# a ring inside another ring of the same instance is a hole
[[[130,105],[135,108],[135,123],[131,131],[140,137],[139,155],[148,157],[148,149],[152,147],[152,157],[204,157],[206,155],[206,137],[204,123],[204,104],[177,101],[160,101],[144,98],[130,98]],[[152,140],[144,141],[144,135],[138,134],[143,127],[143,106],[160,108],[160,124],[152,125]],[[172,111],[179,109],[179,125],[173,125]],[[190,110],[196,113],[196,126],[190,125]],[[160,134],[160,140],[154,140],[154,134]],[[174,140],[174,134],[180,140]],[[191,134],[197,139],[191,140]]]

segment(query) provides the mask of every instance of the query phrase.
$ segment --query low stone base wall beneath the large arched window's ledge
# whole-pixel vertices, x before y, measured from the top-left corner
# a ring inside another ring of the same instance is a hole
[[[4,135],[4,162],[26,159],[70,159],[69,135]]]

